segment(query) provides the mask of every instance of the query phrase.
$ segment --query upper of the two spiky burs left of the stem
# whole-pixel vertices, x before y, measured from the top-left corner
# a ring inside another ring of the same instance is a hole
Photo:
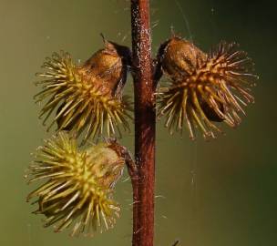
[[[43,90],[35,98],[41,102],[48,98],[40,118],[46,119],[56,110],[57,129],[77,132],[84,129],[87,138],[95,138],[106,131],[115,135],[119,125],[128,129],[128,97],[122,97],[126,82],[130,51],[126,46],[105,41],[105,48],[98,50],[82,66],[73,63],[71,56],[63,51],[47,57],[42,66],[46,72],[37,74],[43,80]]]

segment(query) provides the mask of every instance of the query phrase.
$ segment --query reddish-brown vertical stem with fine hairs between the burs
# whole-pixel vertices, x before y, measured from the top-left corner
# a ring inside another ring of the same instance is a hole
[[[149,0],[131,0],[132,71],[135,94],[133,246],[153,246],[155,182],[155,97],[152,77]]]

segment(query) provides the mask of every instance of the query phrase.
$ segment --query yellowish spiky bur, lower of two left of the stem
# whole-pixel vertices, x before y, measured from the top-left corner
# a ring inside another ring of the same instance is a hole
[[[118,146],[107,141],[80,150],[76,139],[61,131],[37,149],[26,177],[29,183],[46,181],[27,200],[37,198],[34,213],[46,216],[46,227],[56,224],[55,231],[72,227],[71,235],[90,236],[97,228],[113,227],[119,212],[113,190],[125,164]]]

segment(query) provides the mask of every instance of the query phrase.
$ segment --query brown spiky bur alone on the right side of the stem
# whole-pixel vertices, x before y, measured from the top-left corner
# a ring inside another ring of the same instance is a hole
[[[207,55],[187,40],[174,36],[159,48],[158,63],[169,77],[169,87],[159,89],[159,117],[165,115],[170,133],[182,131],[184,122],[195,138],[200,128],[204,138],[220,131],[212,121],[232,128],[241,123],[241,105],[254,101],[250,87],[257,76],[253,64],[235,43],[221,42]]]

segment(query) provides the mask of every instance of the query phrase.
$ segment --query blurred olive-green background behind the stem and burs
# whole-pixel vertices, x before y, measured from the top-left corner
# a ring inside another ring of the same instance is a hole
[[[153,53],[170,35],[203,50],[221,39],[248,51],[260,75],[256,104],[240,128],[191,142],[169,137],[159,124],[155,246],[273,246],[277,244],[276,13],[273,1],[153,0]],[[114,230],[93,239],[42,227],[30,212],[23,178],[30,152],[49,137],[37,118],[33,84],[44,57],[67,50],[84,61],[102,47],[99,36],[130,44],[125,0],[1,0],[0,6],[0,245],[130,245],[131,190],[119,182],[122,215]],[[131,79],[127,93],[131,94]],[[133,134],[122,143],[133,149]],[[125,175],[127,178],[127,175]],[[123,179],[122,179],[123,180]]]

